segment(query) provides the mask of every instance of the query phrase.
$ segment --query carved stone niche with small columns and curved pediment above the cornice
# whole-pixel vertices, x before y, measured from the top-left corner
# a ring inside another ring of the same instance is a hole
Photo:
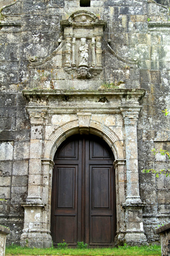
[[[64,31],[63,66],[78,79],[94,78],[102,72],[102,37],[106,22],[89,11],[74,12],[61,21]]]

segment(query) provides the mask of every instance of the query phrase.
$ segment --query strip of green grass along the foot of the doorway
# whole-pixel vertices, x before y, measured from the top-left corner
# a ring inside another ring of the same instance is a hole
[[[58,255],[88,255],[88,256],[161,256],[161,247],[156,245],[151,246],[141,246],[141,247],[131,247],[126,244],[119,248],[89,248],[89,249],[57,249],[54,247],[46,248],[46,249],[30,249],[28,247],[20,247],[20,246],[10,246],[6,247],[5,256],[11,255],[45,255],[45,256],[58,256]]]

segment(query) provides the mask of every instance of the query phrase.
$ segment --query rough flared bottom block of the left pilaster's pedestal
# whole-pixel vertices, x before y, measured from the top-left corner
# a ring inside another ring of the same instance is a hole
[[[24,232],[21,235],[20,245],[22,247],[50,248],[52,244],[52,237],[48,233]]]

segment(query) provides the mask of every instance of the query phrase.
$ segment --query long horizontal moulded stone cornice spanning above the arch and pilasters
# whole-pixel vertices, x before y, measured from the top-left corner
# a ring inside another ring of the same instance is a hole
[[[138,100],[145,94],[143,89],[100,90],[23,90],[29,100],[27,110],[31,117],[43,117],[44,113],[109,113],[120,114],[122,108],[136,112]],[[82,108],[83,106],[83,108]],[[42,113],[42,114],[41,114]]]

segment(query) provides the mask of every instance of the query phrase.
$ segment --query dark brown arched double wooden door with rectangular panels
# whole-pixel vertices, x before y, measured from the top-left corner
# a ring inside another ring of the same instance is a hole
[[[95,135],[74,135],[54,157],[51,232],[53,244],[109,246],[116,232],[113,154]]]

